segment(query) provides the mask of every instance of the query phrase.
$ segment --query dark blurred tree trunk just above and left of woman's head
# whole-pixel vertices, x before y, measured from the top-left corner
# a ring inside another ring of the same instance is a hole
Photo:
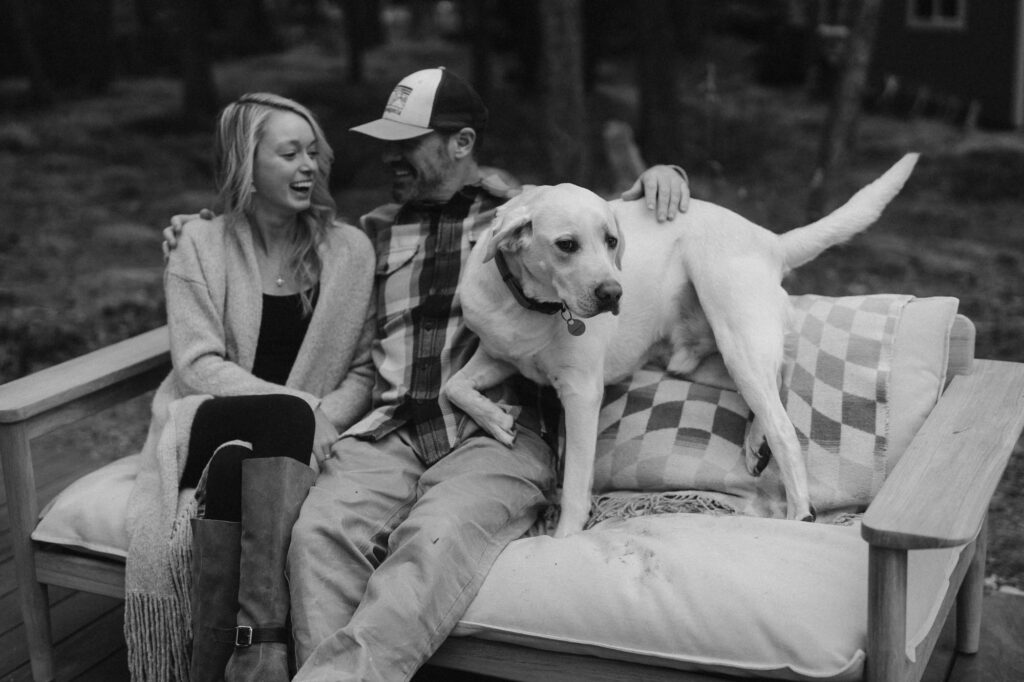
[[[210,15],[205,0],[182,0],[178,20],[182,117],[193,125],[210,127],[217,113],[217,89],[213,82]]]

